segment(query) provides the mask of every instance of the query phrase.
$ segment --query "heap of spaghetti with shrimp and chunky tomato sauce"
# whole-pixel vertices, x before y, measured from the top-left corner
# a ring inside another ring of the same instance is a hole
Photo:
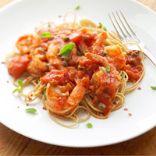
[[[142,60],[141,50],[129,50],[101,23],[80,20],[20,37],[7,67],[15,85],[22,83],[15,92],[26,102],[40,98],[51,116],[78,123],[120,109],[144,75]],[[29,85],[33,90],[25,94]],[[81,111],[86,118],[79,117]]]

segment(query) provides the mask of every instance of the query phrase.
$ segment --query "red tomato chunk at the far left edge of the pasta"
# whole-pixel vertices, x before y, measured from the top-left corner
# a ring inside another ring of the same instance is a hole
[[[29,64],[29,56],[15,56],[9,60],[8,72],[15,79],[19,78],[27,69]]]

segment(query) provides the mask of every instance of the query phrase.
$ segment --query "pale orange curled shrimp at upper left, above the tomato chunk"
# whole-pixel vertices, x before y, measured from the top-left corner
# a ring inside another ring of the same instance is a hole
[[[34,51],[41,44],[41,39],[33,35],[20,37],[16,42],[16,47],[21,54],[27,54]]]

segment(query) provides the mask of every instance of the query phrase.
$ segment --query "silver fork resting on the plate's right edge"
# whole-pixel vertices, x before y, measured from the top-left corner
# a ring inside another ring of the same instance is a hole
[[[144,54],[151,60],[156,66],[156,58],[145,48],[144,43],[138,38],[134,32],[128,20],[124,16],[122,11],[116,11],[109,15],[109,18],[113,24],[113,27],[118,34],[119,38],[125,43],[137,42],[139,47],[143,50]],[[130,47],[129,47],[130,48]],[[136,47],[137,48],[137,47]],[[134,50],[134,47],[133,47]],[[136,49],[138,50],[138,49]]]

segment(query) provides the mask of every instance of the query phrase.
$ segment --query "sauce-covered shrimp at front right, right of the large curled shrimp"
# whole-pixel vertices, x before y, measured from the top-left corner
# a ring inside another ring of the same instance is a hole
[[[111,68],[110,73],[103,72],[99,70],[95,72],[91,79],[91,92],[96,101],[96,107],[99,104],[104,105],[103,115],[108,116],[113,108],[113,99],[117,93],[117,90],[120,86],[120,75],[119,73]]]

